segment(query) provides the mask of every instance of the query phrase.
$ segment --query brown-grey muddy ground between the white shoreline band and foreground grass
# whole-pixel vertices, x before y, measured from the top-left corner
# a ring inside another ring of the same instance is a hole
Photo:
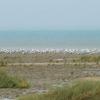
[[[30,83],[28,89],[0,89],[0,98],[14,99],[26,94],[46,92],[53,87],[70,84],[72,80],[78,78],[100,77],[100,64],[79,62],[73,64],[73,59],[79,59],[80,56],[83,55],[0,54],[0,60],[7,62],[0,66],[0,70],[21,77]]]

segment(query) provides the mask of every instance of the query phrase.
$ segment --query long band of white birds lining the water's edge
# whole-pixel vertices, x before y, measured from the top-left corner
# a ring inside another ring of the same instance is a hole
[[[64,52],[64,53],[76,53],[76,54],[84,54],[84,53],[100,53],[100,49],[33,49],[33,48],[0,48],[0,53],[46,53],[46,52]]]

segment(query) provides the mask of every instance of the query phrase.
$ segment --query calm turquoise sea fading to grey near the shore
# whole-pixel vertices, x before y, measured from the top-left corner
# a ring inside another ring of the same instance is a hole
[[[0,31],[0,48],[100,48],[100,31]]]

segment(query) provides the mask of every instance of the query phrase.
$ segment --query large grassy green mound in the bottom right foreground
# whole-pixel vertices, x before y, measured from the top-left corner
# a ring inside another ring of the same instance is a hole
[[[46,94],[28,95],[18,100],[100,100],[100,81],[81,80]]]

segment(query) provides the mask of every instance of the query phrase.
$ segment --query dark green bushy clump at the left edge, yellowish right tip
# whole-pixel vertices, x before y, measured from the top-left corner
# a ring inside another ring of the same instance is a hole
[[[26,80],[18,77],[12,77],[4,71],[0,71],[0,88],[28,88],[29,84]]]

